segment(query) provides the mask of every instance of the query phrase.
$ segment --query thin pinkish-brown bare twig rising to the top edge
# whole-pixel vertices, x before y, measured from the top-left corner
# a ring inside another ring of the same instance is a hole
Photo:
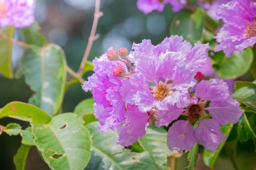
[[[89,39],[88,39],[88,43],[87,43],[87,46],[86,46],[86,49],[85,49],[85,52],[84,52],[79,70],[78,70],[79,75],[82,74],[84,64],[88,59],[88,56],[89,56],[89,53],[91,51],[93,42],[98,38],[98,35],[95,34],[96,29],[97,29],[97,25],[98,25],[98,19],[99,19],[99,17],[101,17],[103,15],[103,13],[101,11],[99,11],[99,7],[100,7],[100,0],[96,0],[92,30],[91,30],[91,34],[90,34]]]

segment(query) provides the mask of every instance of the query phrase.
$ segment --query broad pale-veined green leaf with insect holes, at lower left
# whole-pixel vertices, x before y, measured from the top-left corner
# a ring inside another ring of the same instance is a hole
[[[34,142],[54,170],[83,170],[91,156],[90,133],[74,113],[60,114],[47,123],[32,123]]]

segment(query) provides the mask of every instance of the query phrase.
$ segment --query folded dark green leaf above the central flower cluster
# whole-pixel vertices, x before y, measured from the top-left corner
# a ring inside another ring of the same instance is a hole
[[[197,8],[194,14],[189,11],[179,12],[171,23],[170,33],[183,36],[185,40],[196,43],[202,37],[204,17],[205,12],[202,8]]]

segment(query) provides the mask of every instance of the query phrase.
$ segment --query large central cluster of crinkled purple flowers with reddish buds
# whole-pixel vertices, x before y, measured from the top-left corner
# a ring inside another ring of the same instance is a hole
[[[205,81],[197,69],[208,56],[209,44],[194,47],[180,36],[154,46],[150,40],[95,58],[95,73],[85,81],[92,89],[98,130],[118,132],[117,143],[133,144],[146,127],[168,126],[170,150],[190,150],[197,142],[217,151],[226,136],[220,125],[236,123],[243,111],[222,80]]]

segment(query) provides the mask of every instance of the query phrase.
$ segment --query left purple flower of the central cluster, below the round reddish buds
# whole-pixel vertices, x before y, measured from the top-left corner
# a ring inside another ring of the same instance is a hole
[[[108,54],[111,52],[112,49]],[[118,60],[118,56],[116,59],[108,59],[107,53],[95,58],[93,61],[95,73],[84,82],[82,89],[84,91],[92,89],[95,100],[94,115],[99,119],[98,130],[117,131],[117,143],[128,146],[145,134],[151,116],[150,112],[142,113],[137,106],[129,105],[122,100],[119,89],[128,70],[126,65]]]

